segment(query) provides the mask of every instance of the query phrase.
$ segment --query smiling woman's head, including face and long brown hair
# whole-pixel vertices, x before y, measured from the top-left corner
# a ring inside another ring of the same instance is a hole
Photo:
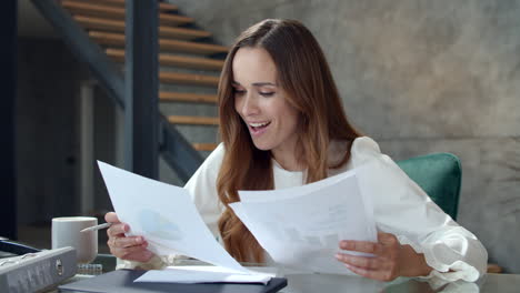
[[[239,189],[273,189],[271,159],[288,171],[307,170],[308,183],[327,178],[330,165],[322,150],[333,140],[350,144],[359,137],[321,48],[297,21],[266,20],[238,38],[222,70],[219,112],[227,151],[217,189],[224,204],[239,201]],[[349,148],[342,156],[338,165],[348,161]],[[223,212],[219,229],[229,231],[223,241],[239,260],[251,254],[263,260],[231,210]]]

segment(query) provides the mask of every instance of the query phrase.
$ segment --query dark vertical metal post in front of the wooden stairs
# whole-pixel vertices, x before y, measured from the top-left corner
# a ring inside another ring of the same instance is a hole
[[[159,176],[158,2],[127,0],[124,133],[127,170]]]

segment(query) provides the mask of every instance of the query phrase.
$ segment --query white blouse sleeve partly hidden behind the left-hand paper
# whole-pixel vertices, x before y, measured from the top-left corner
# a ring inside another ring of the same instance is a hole
[[[202,220],[216,239],[219,238],[218,221],[221,214],[217,193],[217,175],[220,170],[220,164],[222,163],[223,154],[224,148],[223,144],[220,143],[184,185],[184,189],[190,193]],[[158,270],[167,265],[173,265],[179,259],[184,259],[184,256],[178,254],[154,255],[146,263],[118,259],[117,269]]]

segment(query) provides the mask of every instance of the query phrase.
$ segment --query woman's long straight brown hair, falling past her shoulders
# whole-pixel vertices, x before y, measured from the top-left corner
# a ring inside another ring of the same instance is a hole
[[[312,33],[296,20],[267,19],[247,29],[226,59],[219,82],[220,135],[226,149],[217,191],[226,210],[219,230],[226,249],[238,261],[263,261],[263,250],[229,203],[238,190],[274,188],[270,151],[254,146],[247,125],[234,110],[232,62],[240,48],[262,48],[277,67],[277,79],[288,102],[299,112],[298,159],[307,166],[307,182],[327,178],[329,168],[350,159],[350,143],[360,134],[348,122],[329,65]],[[342,160],[329,162],[332,140],[346,141]]]

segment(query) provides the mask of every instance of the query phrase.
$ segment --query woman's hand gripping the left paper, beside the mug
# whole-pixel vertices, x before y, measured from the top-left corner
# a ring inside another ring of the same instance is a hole
[[[121,223],[114,212],[107,213],[104,221],[112,223],[107,230],[109,236],[107,244],[114,256],[138,262],[148,262],[153,256],[153,253],[147,250],[148,242],[142,236],[124,236],[124,232],[128,232],[130,226]]]

